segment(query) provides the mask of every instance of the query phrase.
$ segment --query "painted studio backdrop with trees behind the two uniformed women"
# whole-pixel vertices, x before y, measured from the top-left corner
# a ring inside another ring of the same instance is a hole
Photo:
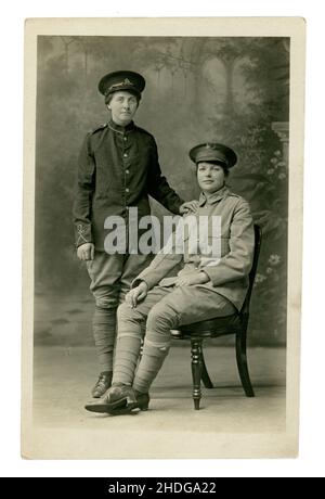
[[[237,152],[229,184],[263,230],[248,341],[285,344],[288,39],[61,36],[38,38],[35,343],[93,343],[93,298],[74,248],[74,182],[84,135],[108,119],[98,82],[118,69],[145,77],[134,120],[154,135],[162,174],[184,200],[198,194],[193,145]],[[167,212],[153,202],[153,214]]]

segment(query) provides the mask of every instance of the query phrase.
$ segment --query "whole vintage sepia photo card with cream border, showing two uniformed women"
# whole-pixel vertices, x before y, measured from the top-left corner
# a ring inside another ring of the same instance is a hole
[[[25,26],[22,456],[298,455],[304,22]]]

